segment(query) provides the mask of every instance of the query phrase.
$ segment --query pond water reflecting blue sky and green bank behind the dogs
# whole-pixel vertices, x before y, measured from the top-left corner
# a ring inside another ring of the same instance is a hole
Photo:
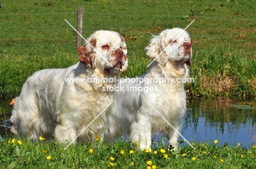
[[[9,133],[11,99],[0,100],[0,134]],[[218,139],[223,145],[245,147],[256,142],[256,101],[239,101],[237,99],[188,100],[187,114],[183,118],[181,134],[189,142],[210,142]],[[4,125],[6,127],[4,127]],[[14,136],[14,135],[13,135]],[[161,140],[161,135],[154,139]],[[179,137],[179,140],[183,140]],[[166,139],[167,142],[167,139]],[[183,143],[184,145],[185,143]]]

